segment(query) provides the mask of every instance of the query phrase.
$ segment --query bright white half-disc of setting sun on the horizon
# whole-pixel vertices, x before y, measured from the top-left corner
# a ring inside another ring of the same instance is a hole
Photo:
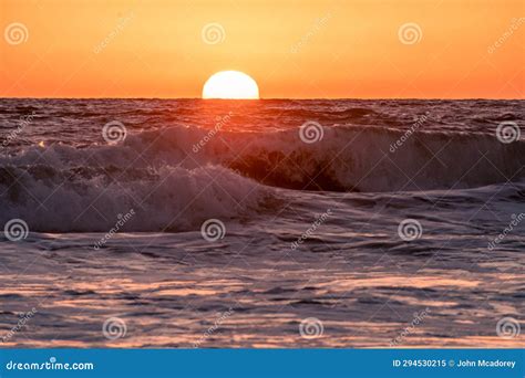
[[[212,75],[203,87],[203,98],[257,99],[255,80],[239,71],[222,71]]]

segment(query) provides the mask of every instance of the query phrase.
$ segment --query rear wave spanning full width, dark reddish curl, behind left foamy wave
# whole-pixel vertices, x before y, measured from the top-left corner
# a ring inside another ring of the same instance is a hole
[[[268,186],[374,192],[473,188],[525,175],[523,140],[377,127],[325,127],[321,133],[309,144],[298,129],[226,133],[177,126],[130,135],[114,146],[34,146],[0,158],[0,167],[44,161],[90,176],[96,169],[133,175],[133,169],[215,165]]]

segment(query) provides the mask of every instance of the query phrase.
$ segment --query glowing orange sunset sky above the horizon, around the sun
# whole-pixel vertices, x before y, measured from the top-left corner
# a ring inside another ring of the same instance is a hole
[[[523,0],[0,4],[0,97],[199,97],[223,70],[246,72],[266,98],[525,93]],[[408,23],[415,40],[400,36]]]

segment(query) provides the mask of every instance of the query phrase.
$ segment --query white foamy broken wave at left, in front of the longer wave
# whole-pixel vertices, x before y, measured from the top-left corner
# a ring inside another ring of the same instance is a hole
[[[134,209],[136,216],[120,231],[181,231],[212,217],[226,222],[248,216],[268,196],[257,182],[217,166],[163,167],[154,172],[121,171],[91,178],[35,168],[34,175],[21,168],[3,169],[2,180],[17,175],[19,181],[0,185],[1,224],[17,217],[30,231],[107,232],[116,214]]]

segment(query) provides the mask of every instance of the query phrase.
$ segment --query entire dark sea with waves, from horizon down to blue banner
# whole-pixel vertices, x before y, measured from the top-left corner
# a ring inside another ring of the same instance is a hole
[[[0,339],[523,346],[523,101],[0,99]]]

